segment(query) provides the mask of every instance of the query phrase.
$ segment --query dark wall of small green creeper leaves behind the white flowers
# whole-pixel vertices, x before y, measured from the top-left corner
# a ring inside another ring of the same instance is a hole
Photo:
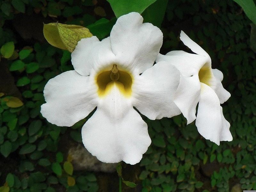
[[[256,190],[255,26],[232,0],[145,2],[155,2],[139,11],[145,22],[161,27],[162,54],[189,52],[179,40],[183,30],[209,53],[212,68],[223,72],[231,93],[223,112],[233,141],[217,146],[205,140],[182,115],[155,121],[143,116],[152,144],[139,164],[121,163],[124,180],[138,184],[123,184],[122,190]],[[73,69],[70,53],[45,41],[43,22],[82,25],[103,39],[115,16],[124,14],[109,3],[123,10],[111,0],[0,1],[0,192],[118,191],[116,172],[74,170],[72,156],[61,147],[69,140],[81,143],[86,118],[57,127],[40,114],[44,85]]]

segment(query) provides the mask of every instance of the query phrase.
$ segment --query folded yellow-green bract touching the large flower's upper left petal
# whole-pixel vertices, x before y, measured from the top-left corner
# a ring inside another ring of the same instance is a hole
[[[89,29],[79,25],[62,23],[44,24],[44,37],[54,47],[73,52],[77,42],[82,38],[91,37]]]

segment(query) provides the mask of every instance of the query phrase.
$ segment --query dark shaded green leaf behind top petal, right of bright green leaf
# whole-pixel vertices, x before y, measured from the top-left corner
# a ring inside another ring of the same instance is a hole
[[[161,27],[164,19],[165,10],[168,0],[157,0],[155,3],[149,5],[147,9],[141,14],[144,23],[152,23],[157,27]]]

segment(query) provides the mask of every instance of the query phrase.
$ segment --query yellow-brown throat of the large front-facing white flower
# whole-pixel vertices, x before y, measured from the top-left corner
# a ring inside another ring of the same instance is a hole
[[[114,64],[110,71],[101,71],[96,76],[98,95],[106,96],[116,86],[125,97],[132,95],[132,76],[129,72],[119,70]]]

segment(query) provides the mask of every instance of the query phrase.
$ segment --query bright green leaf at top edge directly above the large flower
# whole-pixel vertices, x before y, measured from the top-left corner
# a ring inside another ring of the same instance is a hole
[[[130,12],[142,13],[149,5],[156,0],[107,0],[113,9],[116,18]]]

